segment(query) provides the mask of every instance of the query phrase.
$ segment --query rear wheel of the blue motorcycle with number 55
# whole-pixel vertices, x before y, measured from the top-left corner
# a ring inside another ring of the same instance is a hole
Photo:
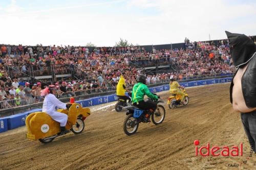
[[[137,132],[139,124],[137,119],[133,117],[133,114],[126,116],[123,122],[123,131],[126,135],[130,136]]]

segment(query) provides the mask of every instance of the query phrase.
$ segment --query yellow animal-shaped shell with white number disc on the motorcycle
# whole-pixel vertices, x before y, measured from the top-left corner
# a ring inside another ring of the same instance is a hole
[[[68,114],[66,129],[71,129],[76,124],[77,117],[84,120],[91,114],[90,109],[82,108],[78,103],[72,103],[68,109],[58,109],[58,112]],[[26,127],[28,129],[27,138],[43,139],[60,132],[59,123],[54,121],[50,115],[45,112],[34,112],[26,118]]]

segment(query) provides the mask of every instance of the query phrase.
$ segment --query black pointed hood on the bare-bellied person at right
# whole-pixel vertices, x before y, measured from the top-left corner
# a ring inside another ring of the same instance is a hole
[[[231,57],[236,68],[246,64],[256,52],[254,42],[244,34],[225,31],[229,40]]]

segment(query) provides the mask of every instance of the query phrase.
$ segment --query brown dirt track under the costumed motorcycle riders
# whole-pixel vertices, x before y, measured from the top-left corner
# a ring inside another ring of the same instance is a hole
[[[49,144],[29,141],[25,127],[1,133],[0,169],[253,169],[256,156],[246,159],[249,145],[240,114],[229,103],[229,84],[189,88],[187,93],[187,106],[169,110],[165,105],[161,125],[142,123],[133,136],[122,130],[125,112],[117,113],[113,106],[92,112],[82,134],[69,133]],[[168,94],[161,96],[166,101]],[[196,139],[199,146],[210,142],[211,147],[243,142],[243,156],[195,156]],[[239,167],[228,166],[234,163]]]

